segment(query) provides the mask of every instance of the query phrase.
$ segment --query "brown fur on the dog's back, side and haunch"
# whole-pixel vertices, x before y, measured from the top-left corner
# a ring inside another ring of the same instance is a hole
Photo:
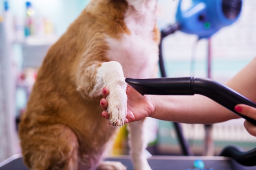
[[[93,64],[109,61],[104,34],[116,39],[130,34],[123,20],[127,3],[91,3],[97,7],[87,7],[47,52],[22,115],[22,154],[33,170],[90,169],[115,133],[101,116],[101,96],[88,96],[95,85],[95,76],[90,75],[95,73],[86,72]]]

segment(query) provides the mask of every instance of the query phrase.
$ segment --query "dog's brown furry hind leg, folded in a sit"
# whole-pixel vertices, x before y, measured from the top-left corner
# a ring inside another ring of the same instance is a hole
[[[69,127],[55,124],[24,130],[23,160],[31,170],[77,170],[79,146]]]

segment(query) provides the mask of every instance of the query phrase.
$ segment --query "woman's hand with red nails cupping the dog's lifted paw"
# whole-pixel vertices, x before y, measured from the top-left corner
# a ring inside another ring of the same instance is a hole
[[[109,114],[106,111],[108,108],[108,101],[106,100],[106,97],[109,93],[111,92],[109,92],[107,87],[104,87],[101,91],[101,94],[103,96],[100,101],[101,108],[103,109],[101,115],[106,119],[109,118]],[[146,118],[147,116],[150,116],[150,114],[154,111],[154,105],[150,96],[142,96],[130,86],[127,87],[126,94],[128,96],[128,100],[127,116],[125,123],[135,122]]]

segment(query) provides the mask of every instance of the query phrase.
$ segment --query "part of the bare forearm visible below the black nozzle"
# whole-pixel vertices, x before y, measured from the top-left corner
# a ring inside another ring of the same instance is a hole
[[[238,118],[236,114],[213,100],[201,96],[151,96],[153,118],[183,123],[212,124]]]

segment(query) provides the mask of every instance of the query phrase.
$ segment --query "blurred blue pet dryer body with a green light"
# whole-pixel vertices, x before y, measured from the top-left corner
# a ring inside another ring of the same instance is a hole
[[[234,23],[240,16],[242,0],[192,0],[193,6],[182,11],[180,0],[176,20],[180,31],[198,35],[199,38],[211,37],[222,27]]]

